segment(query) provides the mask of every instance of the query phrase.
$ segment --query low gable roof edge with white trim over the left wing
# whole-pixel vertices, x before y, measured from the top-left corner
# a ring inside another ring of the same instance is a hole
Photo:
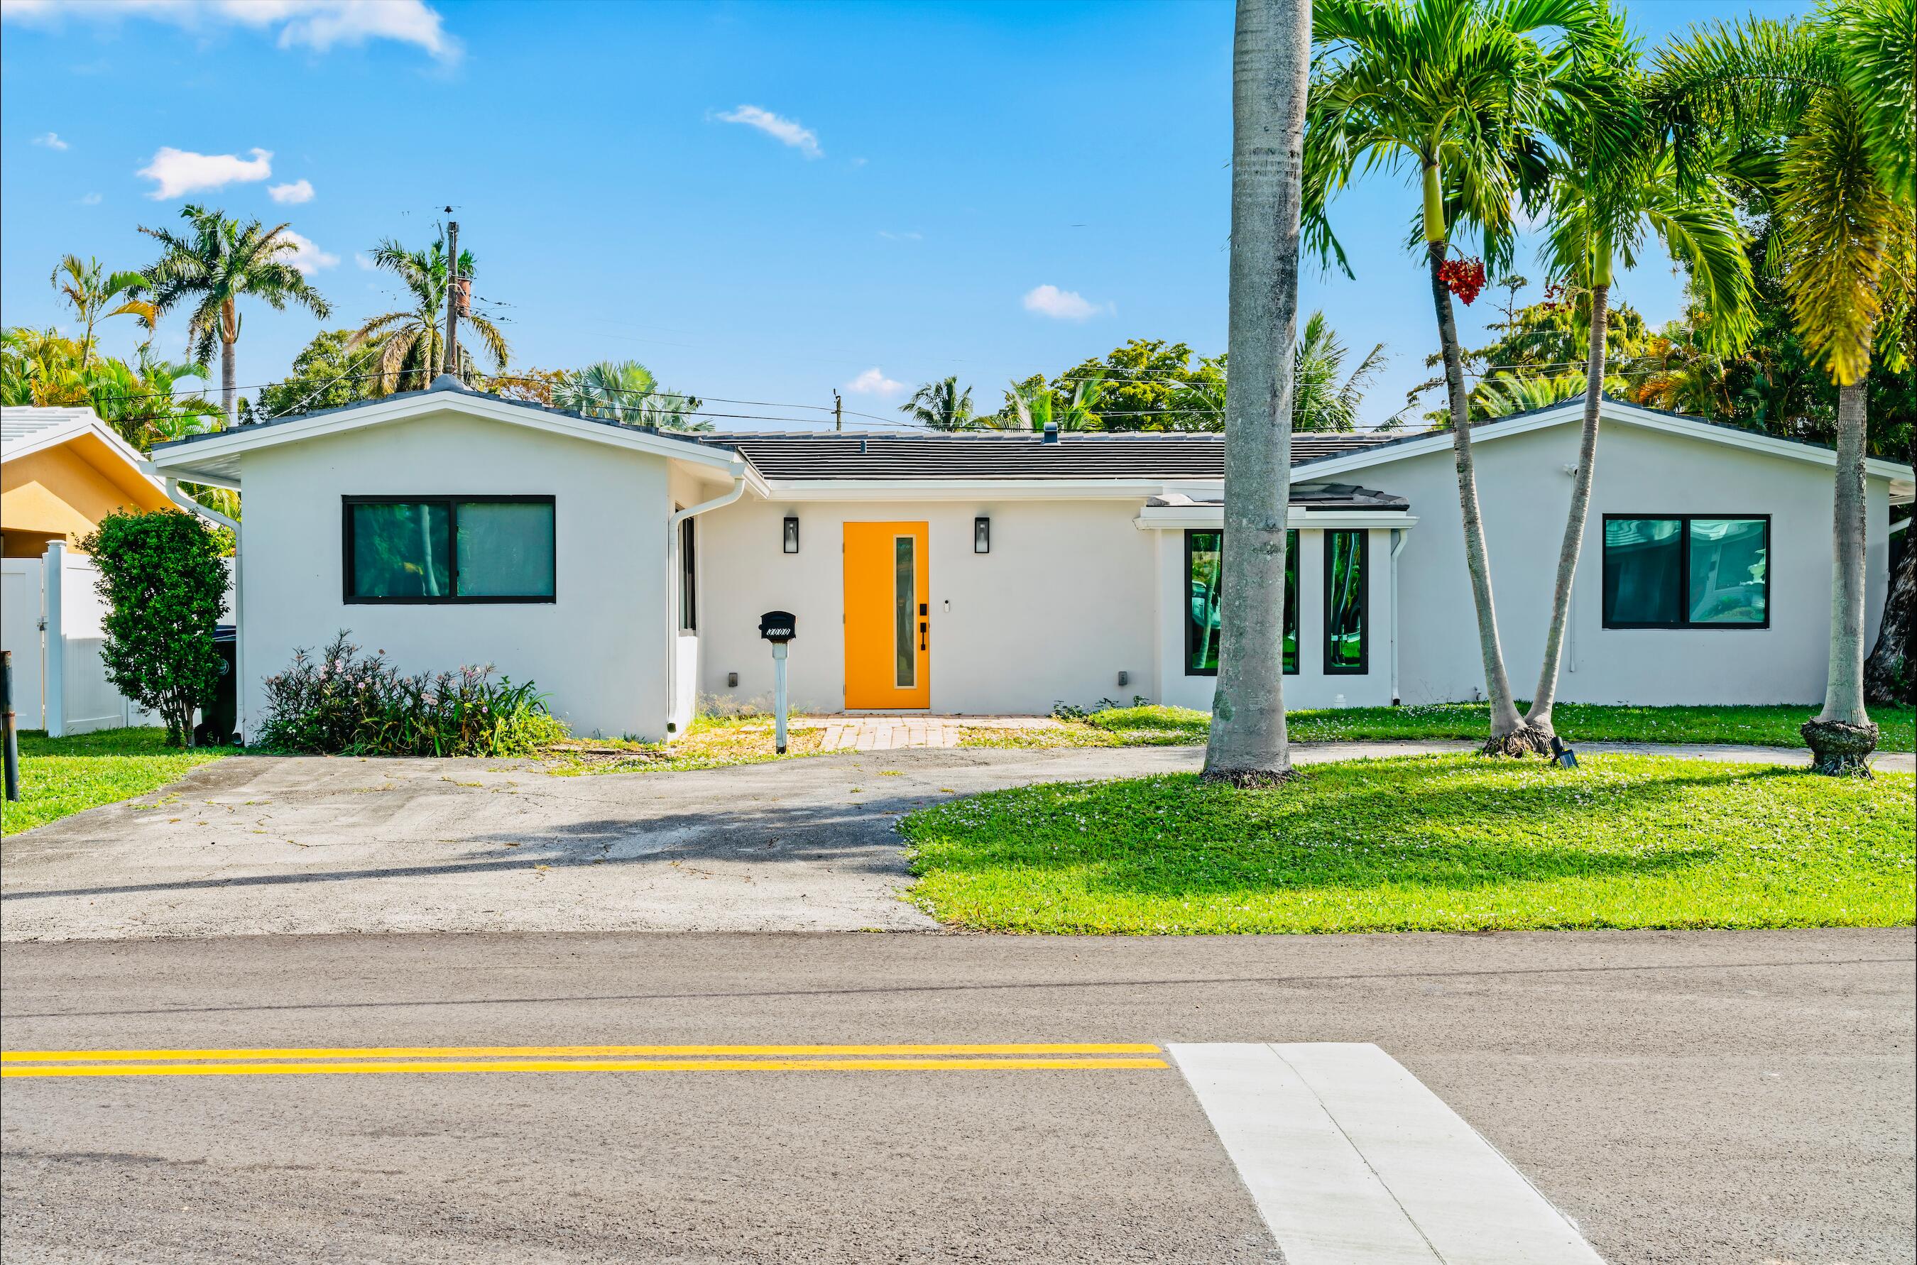
[[[627,426],[612,418],[589,418],[564,408],[548,408],[500,395],[473,391],[456,378],[439,376],[424,391],[401,391],[376,401],[358,401],[339,408],[274,418],[253,426],[238,426],[205,435],[188,435],[173,443],[153,445],[151,468],[194,483],[240,487],[240,456],[322,435],[337,435],[368,426],[404,422],[429,412],[454,410],[493,422],[529,426],[554,435],[569,435],[617,448],[652,452],[675,460],[725,470],[734,477],[750,477],[746,462],[727,445],[696,443],[681,435],[659,433],[654,426]]]

